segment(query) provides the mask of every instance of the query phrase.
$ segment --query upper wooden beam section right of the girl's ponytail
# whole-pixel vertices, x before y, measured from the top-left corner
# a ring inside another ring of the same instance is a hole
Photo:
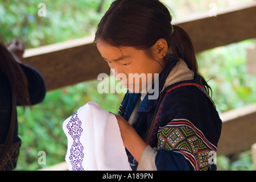
[[[195,15],[176,23],[187,31],[195,52],[256,38],[256,2],[217,11],[217,16]]]

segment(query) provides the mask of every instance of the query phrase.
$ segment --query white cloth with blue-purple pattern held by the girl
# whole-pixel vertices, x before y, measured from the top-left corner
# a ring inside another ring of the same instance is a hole
[[[63,123],[70,171],[130,171],[117,118],[96,102],[81,106]]]

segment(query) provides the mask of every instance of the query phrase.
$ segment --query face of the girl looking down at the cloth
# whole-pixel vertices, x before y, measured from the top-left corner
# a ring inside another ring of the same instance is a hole
[[[102,42],[97,42],[97,48],[108,62],[113,75],[130,92],[141,92],[148,82],[154,83],[154,73],[162,72],[160,64],[163,59],[153,60],[143,50],[133,47],[118,48]]]

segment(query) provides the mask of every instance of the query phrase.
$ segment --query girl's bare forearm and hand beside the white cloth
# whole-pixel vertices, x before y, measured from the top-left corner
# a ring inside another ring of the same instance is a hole
[[[133,126],[131,126],[123,117],[118,114],[115,114],[115,117],[117,118],[124,146],[131,155],[133,155],[135,160],[139,162],[147,143],[144,142],[144,140],[134,130]]]

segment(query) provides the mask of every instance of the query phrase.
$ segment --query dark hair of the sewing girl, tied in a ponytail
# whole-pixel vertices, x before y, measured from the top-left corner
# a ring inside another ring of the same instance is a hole
[[[116,0],[98,24],[95,42],[134,47],[152,57],[151,47],[163,38],[177,59],[183,59],[189,69],[198,72],[191,39],[183,28],[172,26],[171,21],[170,11],[158,0]],[[204,79],[203,84],[209,92]]]

